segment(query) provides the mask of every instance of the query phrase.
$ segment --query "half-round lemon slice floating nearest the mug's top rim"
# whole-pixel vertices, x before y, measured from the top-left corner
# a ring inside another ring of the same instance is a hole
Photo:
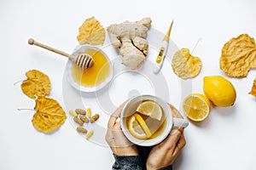
[[[151,118],[156,119],[158,121],[161,120],[163,114],[160,105],[150,100],[144,101],[143,103],[138,105],[137,112],[146,116],[150,116]]]

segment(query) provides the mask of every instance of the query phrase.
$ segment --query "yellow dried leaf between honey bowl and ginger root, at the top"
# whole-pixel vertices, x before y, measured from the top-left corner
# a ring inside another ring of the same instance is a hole
[[[80,43],[101,45],[104,43],[105,37],[106,33],[101,23],[94,17],[90,17],[79,27],[79,36],[77,38]]]

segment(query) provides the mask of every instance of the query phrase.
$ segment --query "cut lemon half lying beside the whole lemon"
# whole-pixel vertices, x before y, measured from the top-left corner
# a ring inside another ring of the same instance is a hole
[[[211,104],[203,94],[190,94],[183,100],[183,111],[190,120],[201,122],[209,116]]]

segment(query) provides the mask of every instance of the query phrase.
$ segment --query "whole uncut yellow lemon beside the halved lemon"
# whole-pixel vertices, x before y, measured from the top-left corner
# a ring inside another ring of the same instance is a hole
[[[228,107],[236,101],[236,89],[233,84],[221,76],[204,77],[204,93],[212,104]]]

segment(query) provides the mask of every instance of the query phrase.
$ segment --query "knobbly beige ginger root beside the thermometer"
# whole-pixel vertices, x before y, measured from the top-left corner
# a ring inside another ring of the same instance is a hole
[[[122,64],[131,70],[140,68],[148,54],[148,41],[145,38],[151,21],[150,18],[143,18],[137,22],[125,21],[108,26],[113,47],[120,48]]]

